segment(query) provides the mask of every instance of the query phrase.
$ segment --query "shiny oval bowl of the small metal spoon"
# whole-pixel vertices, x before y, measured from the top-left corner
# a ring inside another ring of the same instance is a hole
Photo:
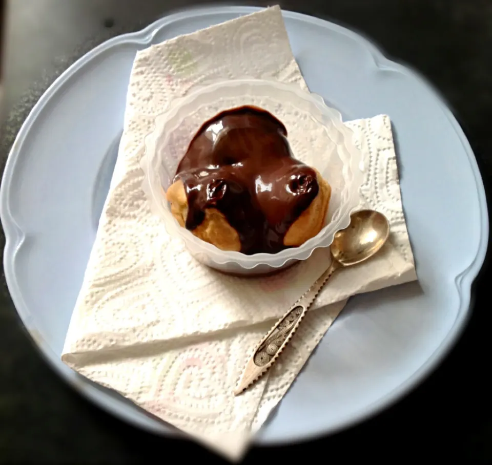
[[[335,234],[332,257],[342,266],[351,266],[372,257],[386,242],[389,223],[374,210],[360,210],[350,217],[350,224]]]

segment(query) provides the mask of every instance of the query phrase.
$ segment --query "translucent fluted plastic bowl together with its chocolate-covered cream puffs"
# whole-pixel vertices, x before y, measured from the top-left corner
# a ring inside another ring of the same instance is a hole
[[[262,274],[327,247],[359,204],[362,156],[340,114],[296,84],[215,82],[155,120],[142,184],[201,263]]]

